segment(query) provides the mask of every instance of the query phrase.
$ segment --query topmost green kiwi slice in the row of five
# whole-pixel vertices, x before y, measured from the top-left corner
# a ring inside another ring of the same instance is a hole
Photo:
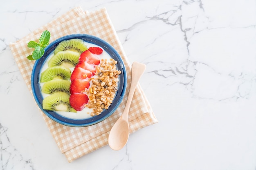
[[[79,52],[80,54],[85,50],[88,50],[86,45],[83,43],[82,39],[69,39],[61,41],[60,44],[55,48],[54,54],[57,54],[59,51],[71,50]]]

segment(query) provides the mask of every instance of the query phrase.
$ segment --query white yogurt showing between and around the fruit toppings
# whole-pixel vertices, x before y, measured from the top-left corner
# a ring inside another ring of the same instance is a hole
[[[99,47],[99,46],[97,46],[97,45],[95,45],[95,44],[91,44],[91,43],[88,43],[88,42],[84,42],[84,43],[85,43],[85,45],[87,46],[87,48],[90,48],[90,47]],[[101,49],[102,49],[102,48],[101,48]],[[53,52],[52,52],[52,54],[51,54],[51,55],[47,58],[47,60],[45,61],[44,65],[43,65],[43,67],[42,67],[42,69],[41,69],[40,76],[41,76],[41,73],[42,73],[43,71],[45,71],[45,70],[48,68],[48,61],[52,58],[53,55],[54,55],[54,54],[53,54]],[[107,60],[110,61],[110,59],[111,59],[110,55],[109,55],[105,50],[103,50],[103,52],[102,52],[101,54],[99,54],[99,55],[97,55],[97,54],[94,54],[94,55],[96,55],[97,57],[99,57],[100,60],[101,60],[101,59],[107,59]],[[71,70],[71,72],[73,72],[74,67],[73,67],[73,68],[70,68],[70,70]],[[69,79],[69,81],[70,81],[70,79]],[[41,87],[41,88],[43,87],[43,84],[44,84],[44,83],[40,83],[40,87]],[[90,85],[91,85],[91,83],[90,83]],[[43,92],[41,92],[41,93],[42,93],[43,98],[45,98],[46,96],[49,96],[49,95],[50,95],[50,94],[45,94],[45,93],[43,93]],[[61,116],[64,116],[64,117],[67,117],[67,118],[71,118],[71,119],[92,118],[92,116],[90,115],[90,113],[92,112],[92,109],[89,109],[88,107],[85,107],[83,110],[77,111],[76,113],[74,113],[74,112],[68,112],[68,111],[54,111],[54,112],[58,113],[58,114],[61,115]]]

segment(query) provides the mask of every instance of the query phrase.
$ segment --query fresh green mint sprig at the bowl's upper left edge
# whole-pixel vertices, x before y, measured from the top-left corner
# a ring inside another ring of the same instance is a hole
[[[49,31],[44,31],[39,39],[39,43],[36,41],[29,41],[27,46],[29,48],[34,48],[34,51],[31,55],[27,56],[29,60],[37,60],[40,59],[45,53],[45,47],[49,45],[51,34]]]

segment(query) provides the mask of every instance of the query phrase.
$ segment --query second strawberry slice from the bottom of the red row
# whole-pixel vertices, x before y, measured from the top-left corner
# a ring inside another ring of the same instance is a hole
[[[89,88],[89,81],[74,79],[70,84],[70,94],[82,93]]]

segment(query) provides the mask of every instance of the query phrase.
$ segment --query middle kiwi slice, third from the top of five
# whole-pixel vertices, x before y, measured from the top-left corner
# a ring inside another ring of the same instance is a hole
[[[67,80],[71,76],[71,70],[64,66],[54,66],[47,68],[42,72],[40,82],[47,82],[53,79]]]

